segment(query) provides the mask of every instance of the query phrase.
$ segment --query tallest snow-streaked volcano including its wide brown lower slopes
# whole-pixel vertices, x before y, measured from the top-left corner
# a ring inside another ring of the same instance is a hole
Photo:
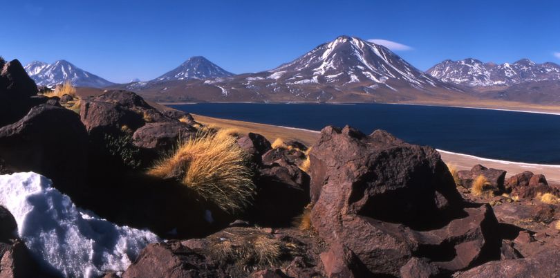
[[[404,61],[388,48],[340,36],[270,71],[127,84],[160,102],[398,102],[465,94]],[[169,76],[169,75],[167,75]]]

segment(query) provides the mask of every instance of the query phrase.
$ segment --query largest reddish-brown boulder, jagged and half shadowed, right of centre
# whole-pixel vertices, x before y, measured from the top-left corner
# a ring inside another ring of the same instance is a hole
[[[398,276],[412,257],[442,272],[499,258],[492,208],[463,201],[435,149],[326,127],[310,160],[313,227],[373,275]]]

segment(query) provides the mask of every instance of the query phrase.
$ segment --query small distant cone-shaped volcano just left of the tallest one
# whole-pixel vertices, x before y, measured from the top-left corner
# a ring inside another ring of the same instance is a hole
[[[169,80],[190,80],[190,79],[211,79],[216,77],[228,77],[233,73],[225,71],[223,68],[210,62],[202,56],[190,57],[183,64],[172,71],[156,78],[160,81]]]

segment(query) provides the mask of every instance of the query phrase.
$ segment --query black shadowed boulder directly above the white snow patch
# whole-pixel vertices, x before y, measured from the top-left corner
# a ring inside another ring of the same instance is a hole
[[[0,128],[0,158],[12,172],[48,176],[63,192],[84,183],[87,151],[80,117],[59,106],[35,106],[18,122]]]

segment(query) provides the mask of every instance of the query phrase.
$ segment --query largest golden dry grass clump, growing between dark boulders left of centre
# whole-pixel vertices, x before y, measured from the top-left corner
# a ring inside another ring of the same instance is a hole
[[[156,163],[148,174],[174,178],[222,210],[234,213],[244,210],[254,194],[246,159],[235,138],[200,132]]]

